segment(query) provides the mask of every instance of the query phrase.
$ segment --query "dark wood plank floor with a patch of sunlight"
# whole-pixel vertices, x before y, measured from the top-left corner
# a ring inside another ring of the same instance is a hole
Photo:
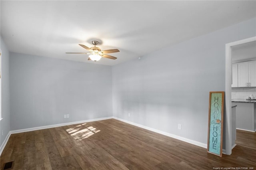
[[[212,170],[253,167],[256,133],[237,130],[232,155],[214,156],[188,144],[115,119],[12,134],[0,157],[14,169]]]

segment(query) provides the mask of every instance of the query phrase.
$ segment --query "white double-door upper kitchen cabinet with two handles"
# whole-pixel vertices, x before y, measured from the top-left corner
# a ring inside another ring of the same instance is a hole
[[[256,87],[256,61],[238,63],[238,87]]]

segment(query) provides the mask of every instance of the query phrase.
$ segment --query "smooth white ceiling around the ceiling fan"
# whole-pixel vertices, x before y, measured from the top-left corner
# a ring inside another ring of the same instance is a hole
[[[87,61],[100,40],[116,65],[256,16],[256,1],[0,1],[1,36],[10,51]]]

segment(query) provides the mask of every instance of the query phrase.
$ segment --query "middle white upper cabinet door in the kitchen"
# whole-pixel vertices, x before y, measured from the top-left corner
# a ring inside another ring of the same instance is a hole
[[[248,63],[238,63],[238,87],[248,87]]]

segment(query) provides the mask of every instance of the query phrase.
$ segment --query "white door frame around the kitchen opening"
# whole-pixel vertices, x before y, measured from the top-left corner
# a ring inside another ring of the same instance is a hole
[[[252,38],[247,38],[244,40],[239,40],[236,42],[231,42],[226,44],[226,94],[225,94],[225,103],[226,103],[226,154],[230,155],[232,153],[232,128],[231,128],[231,84],[232,84],[232,46],[240,45],[243,43],[253,42],[256,41],[256,36]]]

